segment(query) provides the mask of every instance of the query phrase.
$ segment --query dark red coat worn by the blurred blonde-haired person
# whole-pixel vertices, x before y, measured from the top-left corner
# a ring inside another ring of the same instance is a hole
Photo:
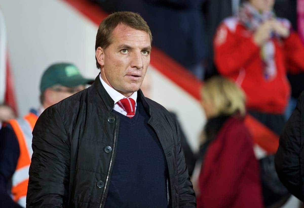
[[[199,189],[198,208],[263,207],[258,163],[242,120],[229,118],[209,145]]]

